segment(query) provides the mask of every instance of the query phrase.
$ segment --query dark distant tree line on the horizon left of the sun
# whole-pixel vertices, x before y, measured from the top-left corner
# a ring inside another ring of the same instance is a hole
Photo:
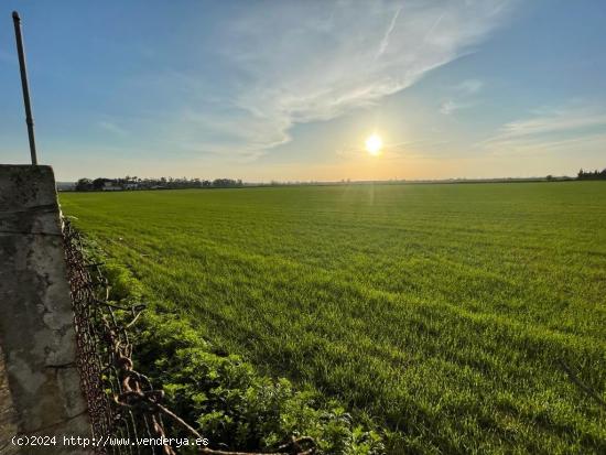
[[[140,178],[127,175],[120,178],[79,178],[75,189],[87,191],[128,191],[128,189],[184,189],[184,188],[235,188],[244,186],[241,180],[234,178]]]

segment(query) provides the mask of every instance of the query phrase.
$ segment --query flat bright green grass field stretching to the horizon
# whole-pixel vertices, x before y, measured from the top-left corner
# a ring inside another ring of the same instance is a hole
[[[392,452],[606,453],[606,184],[64,193],[201,334]]]

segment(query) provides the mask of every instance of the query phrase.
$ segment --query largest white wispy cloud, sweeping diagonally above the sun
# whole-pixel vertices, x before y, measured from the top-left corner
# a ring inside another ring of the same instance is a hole
[[[295,123],[371,106],[469,52],[502,22],[510,3],[255,3],[216,37],[232,74],[223,99],[229,108],[185,109],[175,119],[180,137],[186,137],[181,143],[201,152],[259,156],[290,141]],[[474,94],[481,83],[464,82],[459,89]]]

